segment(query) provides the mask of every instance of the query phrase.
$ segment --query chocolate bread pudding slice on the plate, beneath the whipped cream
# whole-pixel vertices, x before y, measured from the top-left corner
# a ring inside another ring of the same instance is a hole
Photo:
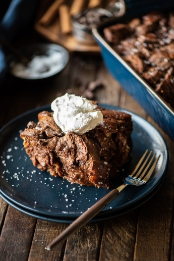
[[[109,178],[128,161],[132,148],[131,115],[97,107],[103,121],[83,135],[63,133],[53,113],[38,114],[22,133],[34,166],[71,183],[109,188]]]

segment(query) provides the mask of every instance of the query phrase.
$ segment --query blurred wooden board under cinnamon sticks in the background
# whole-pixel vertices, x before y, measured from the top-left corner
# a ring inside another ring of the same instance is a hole
[[[100,51],[100,48],[97,45],[97,43],[84,44],[76,40],[76,38],[73,36],[72,31],[70,31],[67,34],[63,34],[61,32],[59,7],[57,8],[57,1],[58,2],[60,1],[61,5],[63,4],[66,5],[71,12],[73,3],[77,0],[74,1],[42,0],[38,9],[37,19],[35,22],[35,30],[47,40],[53,43],[60,44],[66,47],[69,51],[84,51],[84,52],[87,51],[87,52],[98,53]],[[78,1],[82,1],[82,0],[78,0]],[[97,4],[97,2],[101,3],[101,0],[83,0],[83,9],[89,8],[90,1],[92,5],[97,5],[98,7],[101,8],[104,8],[104,5],[108,4],[107,1],[105,1],[104,4]],[[46,23],[42,23],[44,19],[47,19]]]

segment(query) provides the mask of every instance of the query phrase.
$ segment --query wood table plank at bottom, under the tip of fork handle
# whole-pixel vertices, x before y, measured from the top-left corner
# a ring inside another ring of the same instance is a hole
[[[28,261],[59,261],[63,260],[66,241],[56,245],[51,251],[45,249],[57,235],[68,225],[46,221],[37,221]]]

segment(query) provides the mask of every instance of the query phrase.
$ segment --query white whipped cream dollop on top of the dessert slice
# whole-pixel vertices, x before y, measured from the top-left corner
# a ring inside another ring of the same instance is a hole
[[[103,115],[96,107],[90,100],[68,93],[51,103],[54,121],[66,134],[82,135],[102,122]]]

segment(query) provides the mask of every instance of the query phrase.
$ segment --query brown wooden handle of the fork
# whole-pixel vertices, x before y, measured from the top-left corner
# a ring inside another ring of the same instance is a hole
[[[83,227],[88,221],[95,217],[110,201],[112,201],[119,194],[118,189],[111,190],[107,195],[101,198],[98,202],[92,205],[89,210],[85,211],[79,218],[77,218],[69,227],[67,227],[59,236],[57,236],[46,247],[50,250],[51,247],[67,239],[71,234]]]

